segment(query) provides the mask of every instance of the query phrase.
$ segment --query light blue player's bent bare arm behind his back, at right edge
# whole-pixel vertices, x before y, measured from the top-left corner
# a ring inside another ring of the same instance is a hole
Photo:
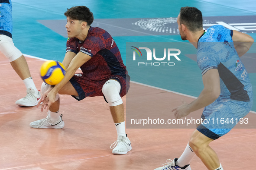
[[[250,35],[235,30],[233,30],[232,40],[239,57],[246,54],[254,42]]]

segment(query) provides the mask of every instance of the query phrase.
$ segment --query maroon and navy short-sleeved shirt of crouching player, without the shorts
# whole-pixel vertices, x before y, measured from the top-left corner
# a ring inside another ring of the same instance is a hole
[[[117,44],[104,29],[91,27],[83,42],[78,38],[68,38],[68,51],[75,54],[80,51],[91,57],[80,67],[84,73],[83,76],[89,80],[102,81],[111,76],[129,77]]]

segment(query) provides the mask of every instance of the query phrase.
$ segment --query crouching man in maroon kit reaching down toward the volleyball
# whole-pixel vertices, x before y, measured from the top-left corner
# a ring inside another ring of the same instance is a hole
[[[93,96],[104,96],[117,128],[117,141],[110,146],[113,154],[126,154],[132,149],[126,137],[123,97],[130,87],[130,76],[117,44],[101,28],[91,27],[93,13],[86,6],[75,6],[65,12],[67,17],[67,51],[62,64],[66,68],[64,79],[55,86],[42,84],[41,111],[48,110],[45,119],[30,123],[32,128],[64,127],[59,113],[58,94],[72,95],[78,101]],[[78,68],[82,73],[75,74]],[[39,106],[39,105],[38,105]],[[38,107],[37,106],[37,107]]]

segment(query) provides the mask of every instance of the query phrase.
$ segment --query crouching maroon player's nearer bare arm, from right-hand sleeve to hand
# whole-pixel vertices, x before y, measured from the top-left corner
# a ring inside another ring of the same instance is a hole
[[[52,103],[55,102],[55,97],[58,91],[60,91],[60,89],[62,89],[67,84],[72,76],[74,76],[76,70],[90,59],[91,57],[89,55],[82,52],[78,52],[78,54],[75,55],[75,57],[71,60],[68,68],[66,69],[66,74],[62,81],[55,85],[54,88],[52,88],[52,90],[48,93],[46,98],[47,104],[45,104],[47,111],[49,110],[49,107],[52,105]]]

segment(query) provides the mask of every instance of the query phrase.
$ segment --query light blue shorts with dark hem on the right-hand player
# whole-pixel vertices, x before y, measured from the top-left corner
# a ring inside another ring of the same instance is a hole
[[[197,130],[211,139],[218,139],[227,134],[246,116],[253,106],[253,101],[234,101],[217,99],[204,108],[201,116],[203,123]]]

